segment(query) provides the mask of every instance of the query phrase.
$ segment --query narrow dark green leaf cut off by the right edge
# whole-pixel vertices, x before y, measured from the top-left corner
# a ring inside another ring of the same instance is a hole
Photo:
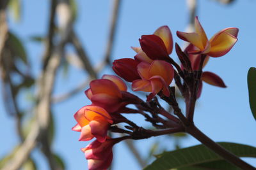
[[[249,103],[252,115],[256,120],[256,68],[250,67],[247,75]]]

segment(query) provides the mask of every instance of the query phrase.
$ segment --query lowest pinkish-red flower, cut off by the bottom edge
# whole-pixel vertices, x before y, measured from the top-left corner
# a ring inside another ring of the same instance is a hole
[[[108,169],[113,159],[113,145],[119,141],[120,140],[108,138],[104,143],[100,143],[96,140],[85,148],[82,148],[81,150],[84,152],[86,159],[88,159],[88,169]]]

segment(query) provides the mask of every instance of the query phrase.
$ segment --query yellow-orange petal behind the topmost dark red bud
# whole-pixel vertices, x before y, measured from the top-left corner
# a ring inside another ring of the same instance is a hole
[[[163,40],[168,54],[172,53],[173,39],[172,39],[172,32],[170,31],[169,27],[166,25],[159,27],[154,32],[154,35],[159,36]]]

